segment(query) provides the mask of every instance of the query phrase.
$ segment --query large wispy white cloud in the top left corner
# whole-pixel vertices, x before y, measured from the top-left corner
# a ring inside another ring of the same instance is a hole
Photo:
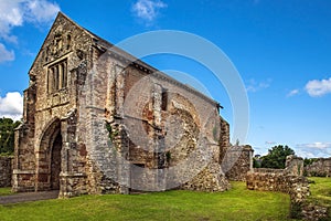
[[[24,22],[49,23],[58,11],[60,7],[47,0],[0,0],[0,40],[17,43],[18,38],[11,33],[13,28],[22,27]]]

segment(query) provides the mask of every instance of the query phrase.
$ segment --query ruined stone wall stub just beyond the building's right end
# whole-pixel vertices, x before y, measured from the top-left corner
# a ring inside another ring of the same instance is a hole
[[[249,145],[229,147],[222,162],[226,178],[233,181],[246,181],[246,173],[253,171],[253,152]]]

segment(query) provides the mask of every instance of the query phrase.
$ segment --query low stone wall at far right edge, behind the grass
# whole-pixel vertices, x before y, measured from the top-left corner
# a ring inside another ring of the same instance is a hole
[[[331,177],[331,157],[319,158],[305,167],[305,173],[309,177]]]

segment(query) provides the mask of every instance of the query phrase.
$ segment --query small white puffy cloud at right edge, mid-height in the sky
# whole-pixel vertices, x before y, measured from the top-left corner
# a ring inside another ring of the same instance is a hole
[[[309,81],[306,84],[306,91],[312,97],[319,97],[331,93],[331,77],[329,80]]]

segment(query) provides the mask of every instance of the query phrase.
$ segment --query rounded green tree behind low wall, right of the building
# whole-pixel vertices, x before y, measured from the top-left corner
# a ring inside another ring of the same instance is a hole
[[[295,155],[295,150],[289,148],[287,145],[278,145],[269,149],[268,155],[261,157],[263,168],[284,169],[286,157]]]

